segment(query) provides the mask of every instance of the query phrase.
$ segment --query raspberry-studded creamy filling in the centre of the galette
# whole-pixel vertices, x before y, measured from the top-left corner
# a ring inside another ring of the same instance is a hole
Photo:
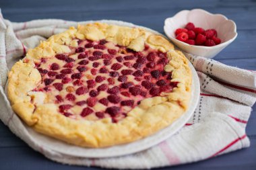
[[[78,42],[69,54],[36,63],[42,82],[34,91],[44,91],[44,102],[57,104],[64,116],[118,122],[142,99],[177,87],[164,71],[166,53],[149,46],[134,52],[106,40]]]

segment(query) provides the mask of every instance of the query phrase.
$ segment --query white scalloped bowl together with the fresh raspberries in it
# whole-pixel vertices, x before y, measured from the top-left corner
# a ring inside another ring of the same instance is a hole
[[[237,36],[232,20],[203,9],[183,10],[168,17],[164,32],[181,50],[206,58],[216,56]]]

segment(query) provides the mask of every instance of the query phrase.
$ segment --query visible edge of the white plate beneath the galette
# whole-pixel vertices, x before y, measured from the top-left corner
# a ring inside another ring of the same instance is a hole
[[[93,21],[90,21],[90,22],[93,22]],[[135,26],[130,23],[118,22],[113,20],[102,20],[99,22],[106,22],[108,24],[117,24],[121,26],[131,26],[131,27]],[[88,23],[88,22],[83,22],[83,23]],[[135,26],[135,27],[140,27],[140,26]],[[143,27],[140,27],[140,28],[143,28]],[[154,32],[155,34],[159,34],[154,30],[150,30],[148,28],[144,28],[144,29]],[[199,100],[200,85],[199,85],[199,79],[197,77],[197,73],[190,62],[189,62],[189,67],[191,68],[191,71],[193,73],[193,81],[192,81],[192,88],[191,88],[192,95],[191,95],[191,102],[189,103],[189,109],[187,110],[187,112],[185,112],[185,114],[183,114],[183,116],[181,116],[181,118],[174,121],[170,126],[160,130],[156,134],[153,134],[141,140],[137,140],[135,142],[131,142],[128,144],[110,146],[107,148],[83,148],[79,146],[74,146],[72,144],[67,144],[65,142],[62,142],[61,140],[50,138],[43,134],[39,134],[35,132],[32,128],[26,125],[24,126],[26,127],[26,129],[28,130],[32,138],[36,140],[36,142],[40,146],[44,146],[44,148],[49,148],[53,151],[62,153],[64,155],[69,155],[74,157],[102,158],[102,157],[117,157],[117,156],[128,155],[131,153],[137,153],[139,151],[143,151],[147,148],[150,148],[162,142],[163,140],[166,140],[166,138],[169,138],[178,130],[180,130],[186,124],[186,122],[189,120],[189,118],[192,116],[193,112],[195,111],[197,102]]]

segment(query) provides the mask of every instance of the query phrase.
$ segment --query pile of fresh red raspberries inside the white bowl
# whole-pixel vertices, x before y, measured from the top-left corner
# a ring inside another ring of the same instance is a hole
[[[185,28],[175,30],[175,36],[177,40],[196,46],[216,46],[221,42],[216,30],[204,30],[203,28],[195,27],[191,22]]]

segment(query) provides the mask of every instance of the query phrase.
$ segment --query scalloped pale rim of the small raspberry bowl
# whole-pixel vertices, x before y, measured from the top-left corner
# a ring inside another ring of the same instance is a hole
[[[182,42],[182,41],[180,41],[180,40],[177,40],[176,38],[174,38],[174,37],[169,36],[168,34],[166,34],[166,30],[165,30],[165,28],[166,28],[166,22],[168,22],[168,20],[170,20],[170,19],[174,18],[175,16],[177,16],[179,13],[183,13],[183,12],[185,12],[185,11],[190,11],[190,12],[191,12],[191,11],[200,11],[200,12],[203,12],[203,13],[207,13],[208,15],[219,15],[219,16],[223,17],[224,19],[226,19],[226,21],[231,22],[232,25],[234,26],[234,30],[233,30],[233,31],[234,31],[235,34],[234,34],[233,38],[231,38],[230,40],[228,40],[228,41],[226,41],[226,42],[220,43],[220,44],[218,44],[218,45],[216,45],[216,46],[194,46],[194,45],[190,45],[190,44],[187,44],[187,43],[185,43],[185,42]],[[219,48],[220,46],[224,46],[224,45],[230,44],[230,43],[237,37],[236,24],[235,24],[234,21],[232,21],[231,19],[228,19],[226,16],[224,16],[224,15],[222,15],[222,14],[220,14],[220,13],[214,14],[214,13],[210,13],[210,12],[208,12],[208,11],[205,11],[205,10],[203,10],[203,9],[182,10],[182,11],[179,11],[178,13],[176,13],[174,16],[166,18],[166,19],[164,20],[164,32],[165,32],[166,36],[168,36],[168,38],[170,38],[171,40],[173,39],[173,41],[178,41],[178,42],[180,42],[181,44],[183,44],[183,45],[185,45],[185,46],[193,46],[193,47],[195,47],[195,48],[201,48],[201,49],[202,49],[202,48],[204,48],[204,49]]]

